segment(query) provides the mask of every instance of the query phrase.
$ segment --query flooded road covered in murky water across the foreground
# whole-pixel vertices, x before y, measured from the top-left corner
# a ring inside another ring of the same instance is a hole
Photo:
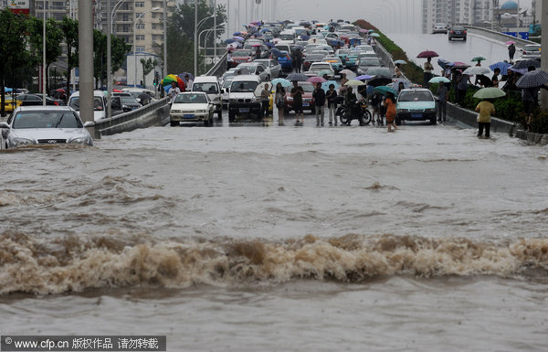
[[[312,120],[0,151],[3,334],[545,350],[546,147]]]

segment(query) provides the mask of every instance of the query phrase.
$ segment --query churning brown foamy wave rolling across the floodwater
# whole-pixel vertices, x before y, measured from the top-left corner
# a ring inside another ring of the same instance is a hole
[[[68,237],[44,241],[0,235],[0,293],[68,293],[89,288],[192,284],[238,285],[294,278],[358,283],[412,274],[548,273],[548,239],[491,243],[462,238],[346,235],[327,239],[116,240]]]

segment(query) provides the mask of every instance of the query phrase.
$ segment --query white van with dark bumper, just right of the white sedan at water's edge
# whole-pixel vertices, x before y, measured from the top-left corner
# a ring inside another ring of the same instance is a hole
[[[237,115],[261,116],[260,99],[255,95],[260,79],[257,75],[236,76],[228,93],[228,121],[236,122]]]

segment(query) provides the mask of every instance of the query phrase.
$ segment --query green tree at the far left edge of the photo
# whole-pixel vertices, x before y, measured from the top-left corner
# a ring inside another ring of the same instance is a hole
[[[29,59],[26,44],[28,23],[25,16],[0,11],[0,114],[5,116],[5,75]]]

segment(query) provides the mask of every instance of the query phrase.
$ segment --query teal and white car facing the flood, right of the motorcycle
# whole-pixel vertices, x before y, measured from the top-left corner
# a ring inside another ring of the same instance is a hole
[[[436,101],[426,88],[409,88],[400,91],[395,102],[395,124],[404,120],[423,121],[436,124]]]

